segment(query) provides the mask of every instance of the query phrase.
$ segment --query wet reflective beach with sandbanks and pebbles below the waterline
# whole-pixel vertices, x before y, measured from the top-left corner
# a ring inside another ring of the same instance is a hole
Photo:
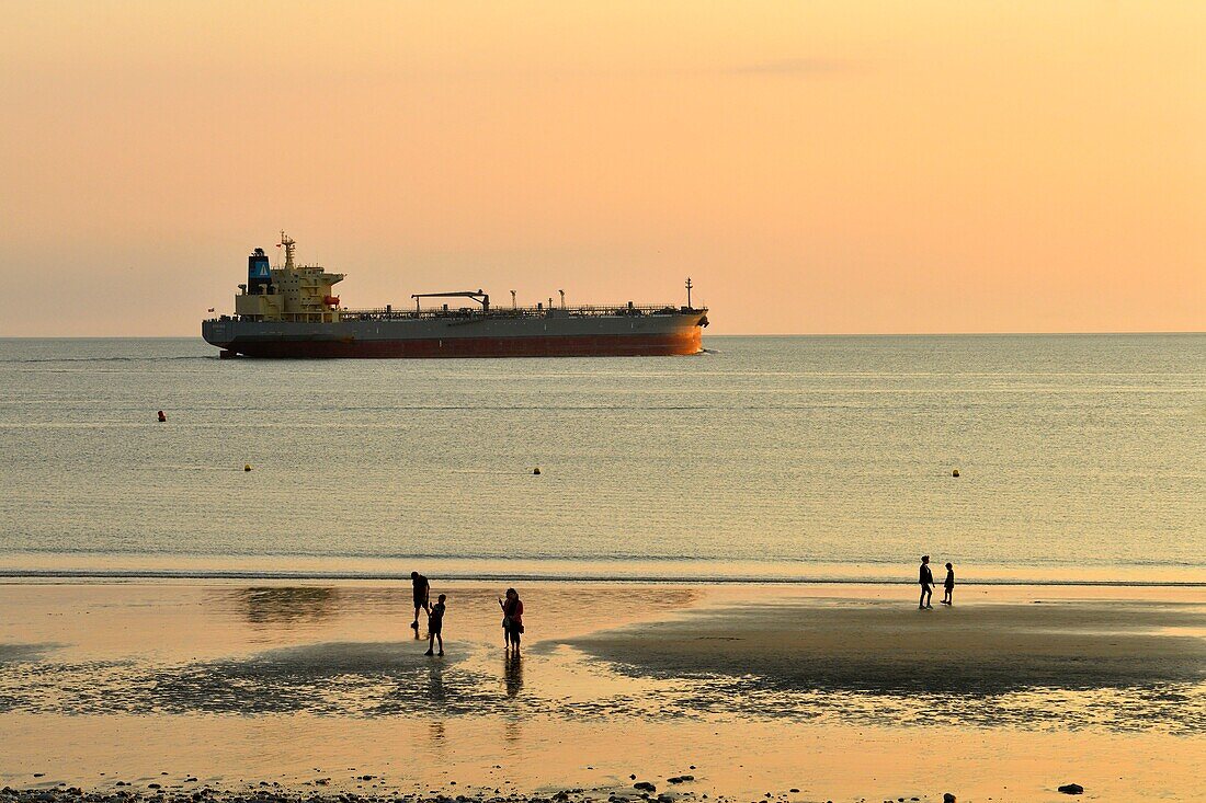
[[[437,582],[429,658],[406,585],[10,581],[0,785],[1200,799],[1200,587],[970,585],[918,611],[908,585],[540,582],[517,661],[502,590]]]

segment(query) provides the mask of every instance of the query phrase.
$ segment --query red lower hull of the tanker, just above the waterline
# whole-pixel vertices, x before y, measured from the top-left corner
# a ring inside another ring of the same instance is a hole
[[[247,357],[456,358],[456,357],[669,357],[702,351],[699,327],[674,334],[444,340],[262,340],[235,341],[228,351]]]

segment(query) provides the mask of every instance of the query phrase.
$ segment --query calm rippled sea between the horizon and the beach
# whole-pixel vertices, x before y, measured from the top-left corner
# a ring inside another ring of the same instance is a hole
[[[704,345],[0,340],[0,573],[1206,582],[1206,335]]]

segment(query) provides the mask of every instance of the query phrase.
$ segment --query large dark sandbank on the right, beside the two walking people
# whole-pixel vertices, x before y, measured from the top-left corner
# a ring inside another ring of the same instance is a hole
[[[921,611],[896,599],[751,596],[567,643],[658,675],[1000,694],[1199,682],[1206,680],[1204,627],[1206,605],[1159,599],[973,600]]]

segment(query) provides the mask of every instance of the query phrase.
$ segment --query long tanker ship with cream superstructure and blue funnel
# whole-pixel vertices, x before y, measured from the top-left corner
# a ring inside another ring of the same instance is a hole
[[[234,315],[201,322],[201,336],[229,357],[644,357],[701,352],[708,309],[686,305],[494,306],[481,289],[415,293],[414,306],[350,310],[334,286],[343,274],[294,263],[297,244],[283,231],[285,264],[263,248],[247,257]],[[425,299],[463,299],[423,306]],[[215,310],[210,310],[213,312]]]

